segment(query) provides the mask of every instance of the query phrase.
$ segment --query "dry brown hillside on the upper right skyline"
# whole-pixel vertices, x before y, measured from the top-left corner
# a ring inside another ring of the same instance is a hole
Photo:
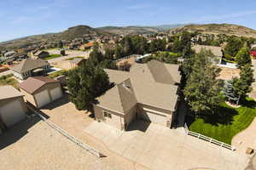
[[[187,25],[170,31],[199,31],[208,34],[226,34],[235,35],[238,37],[254,37],[256,38],[256,31],[245,26],[237,26],[232,24],[207,24],[207,25]]]

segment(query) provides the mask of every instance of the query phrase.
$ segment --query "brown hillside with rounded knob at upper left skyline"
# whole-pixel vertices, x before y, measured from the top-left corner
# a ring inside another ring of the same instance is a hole
[[[44,42],[58,42],[60,40],[73,40],[74,38],[84,37],[87,35],[107,35],[108,32],[101,31],[90,26],[73,26],[66,31],[58,33],[47,33],[42,35],[22,37],[8,42],[0,42],[0,49],[25,48],[30,45],[38,45]]]

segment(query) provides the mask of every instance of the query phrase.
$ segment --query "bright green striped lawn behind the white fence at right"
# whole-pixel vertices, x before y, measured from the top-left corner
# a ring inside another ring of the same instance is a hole
[[[222,104],[217,115],[203,116],[194,120],[190,117],[187,120],[190,122],[189,130],[231,144],[232,138],[253,122],[256,116],[255,105],[253,99],[247,99],[239,108]]]

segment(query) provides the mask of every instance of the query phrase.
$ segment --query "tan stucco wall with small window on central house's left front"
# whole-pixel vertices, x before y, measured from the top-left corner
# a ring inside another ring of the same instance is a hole
[[[103,111],[107,111],[108,113],[111,114],[111,118],[104,117],[103,116]],[[125,129],[125,117],[124,115],[111,111],[105,108],[102,108],[100,105],[94,105],[94,112],[96,116],[96,120],[99,122],[106,122],[109,125],[113,127],[117,127],[121,130]]]

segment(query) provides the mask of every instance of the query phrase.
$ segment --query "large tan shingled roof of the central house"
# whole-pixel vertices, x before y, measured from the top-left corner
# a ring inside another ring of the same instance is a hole
[[[110,82],[116,86],[97,98],[99,105],[124,112],[125,107],[129,108],[127,103],[137,102],[174,111],[177,104],[177,86],[174,84],[179,82],[180,74],[177,65],[169,66],[166,69],[165,64],[151,60],[144,65],[132,65],[130,72],[106,70]],[[161,75],[166,80],[156,78]]]

